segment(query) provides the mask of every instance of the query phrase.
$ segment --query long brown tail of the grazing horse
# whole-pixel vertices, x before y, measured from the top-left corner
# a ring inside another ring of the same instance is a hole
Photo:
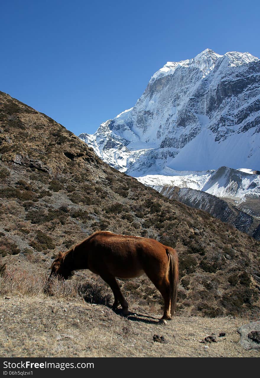
[[[170,257],[170,269],[169,269],[169,280],[170,280],[170,295],[171,295],[171,316],[174,315],[177,303],[177,291],[178,291],[178,281],[179,281],[179,260],[175,249],[167,247],[166,253]]]

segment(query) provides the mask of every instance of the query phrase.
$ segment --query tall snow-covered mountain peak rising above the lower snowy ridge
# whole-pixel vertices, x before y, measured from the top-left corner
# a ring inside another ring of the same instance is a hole
[[[167,62],[133,108],[79,138],[135,177],[167,169],[260,170],[260,60],[206,49],[193,59]]]

